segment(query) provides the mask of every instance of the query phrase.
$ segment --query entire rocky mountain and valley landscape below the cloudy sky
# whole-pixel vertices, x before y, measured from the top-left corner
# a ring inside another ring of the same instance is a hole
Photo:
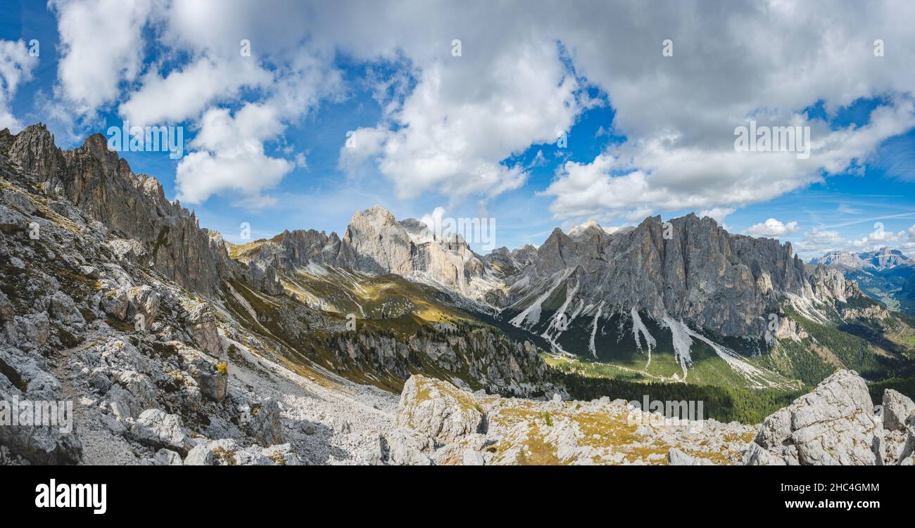
[[[911,464],[910,270],[694,215],[479,255],[374,206],[233,245],[101,134],[4,130],[0,399],[74,428],[2,427],[0,462]]]

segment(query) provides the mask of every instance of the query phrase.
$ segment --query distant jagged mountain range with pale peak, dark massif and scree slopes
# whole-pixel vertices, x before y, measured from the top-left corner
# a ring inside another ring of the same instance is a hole
[[[319,290],[308,283],[335,269],[398,275],[535,340],[551,361],[584,360],[611,377],[789,387],[818,382],[831,365],[879,370],[863,340],[856,346],[866,355],[849,364],[828,346],[806,359],[798,348],[816,339],[800,320],[834,327],[879,309],[854,280],[805,266],[790,244],[732,235],[707,217],[654,216],[618,229],[588,222],[568,234],[554,229],[539,247],[480,256],[374,206],[353,215],[342,238],[286,231],[231,254],[300,290]],[[791,352],[775,354],[784,347]]]

